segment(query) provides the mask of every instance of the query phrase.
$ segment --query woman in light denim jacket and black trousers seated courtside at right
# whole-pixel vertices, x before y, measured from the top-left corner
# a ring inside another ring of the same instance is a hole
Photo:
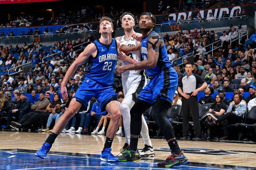
[[[244,117],[246,106],[242,102],[241,93],[235,93],[234,104],[230,104],[225,115],[214,121],[214,124],[222,122],[224,135],[219,140],[228,140],[228,125],[234,123],[241,123],[241,118]]]

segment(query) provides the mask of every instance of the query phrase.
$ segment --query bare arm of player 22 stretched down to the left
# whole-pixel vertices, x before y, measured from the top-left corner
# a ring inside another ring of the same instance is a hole
[[[97,54],[97,48],[93,43],[89,44],[84,51],[76,58],[74,63],[70,65],[70,67],[67,70],[67,73],[65,74],[65,77],[63,78],[63,81],[61,83],[61,94],[64,98],[67,96],[67,89],[66,89],[66,83],[68,82],[68,79],[74,74],[77,67],[82,64],[87,58],[89,58],[91,55],[95,57]],[[65,93],[65,95],[64,95]]]

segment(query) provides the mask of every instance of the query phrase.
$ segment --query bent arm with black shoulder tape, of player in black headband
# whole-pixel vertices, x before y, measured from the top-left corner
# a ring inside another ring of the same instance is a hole
[[[126,70],[145,70],[156,67],[159,56],[159,49],[163,47],[163,39],[159,36],[152,36],[148,40],[148,59],[139,63],[129,64],[126,66],[118,66],[116,73],[121,74]],[[143,57],[143,56],[142,56]]]

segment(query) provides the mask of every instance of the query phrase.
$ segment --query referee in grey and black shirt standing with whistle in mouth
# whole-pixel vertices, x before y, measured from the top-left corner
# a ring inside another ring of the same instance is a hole
[[[191,112],[193,123],[194,123],[194,135],[193,141],[200,141],[201,128],[199,122],[199,113],[198,113],[198,99],[197,93],[201,90],[204,90],[207,87],[205,81],[198,76],[193,74],[193,64],[186,63],[185,70],[187,74],[180,78],[180,83],[178,87],[178,92],[182,96],[182,128],[183,128],[183,137],[180,140],[190,140],[188,135],[189,130],[189,111]],[[198,84],[202,86],[198,88]]]

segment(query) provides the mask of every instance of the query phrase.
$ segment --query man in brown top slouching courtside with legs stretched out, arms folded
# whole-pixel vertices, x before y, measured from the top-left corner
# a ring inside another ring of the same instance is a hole
[[[31,106],[32,112],[29,111],[29,113],[24,115],[19,122],[12,122],[14,129],[19,130],[19,128],[27,127],[32,123],[39,121],[40,114],[46,112],[46,107],[50,103],[49,100],[45,98],[43,92],[39,94],[39,99],[40,101],[36,101],[36,103]]]

